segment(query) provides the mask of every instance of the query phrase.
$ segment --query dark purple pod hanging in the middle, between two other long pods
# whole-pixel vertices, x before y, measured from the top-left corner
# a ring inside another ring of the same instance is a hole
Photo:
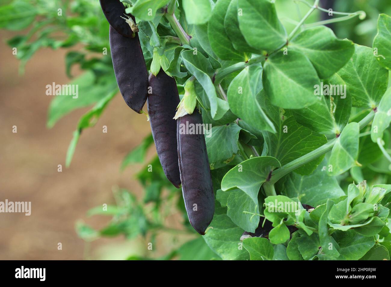
[[[178,88],[174,78],[162,69],[155,77],[149,75],[152,93],[147,105],[152,136],[163,171],[168,180],[177,188],[181,186],[176,142],[176,120],[173,119],[179,104]]]

